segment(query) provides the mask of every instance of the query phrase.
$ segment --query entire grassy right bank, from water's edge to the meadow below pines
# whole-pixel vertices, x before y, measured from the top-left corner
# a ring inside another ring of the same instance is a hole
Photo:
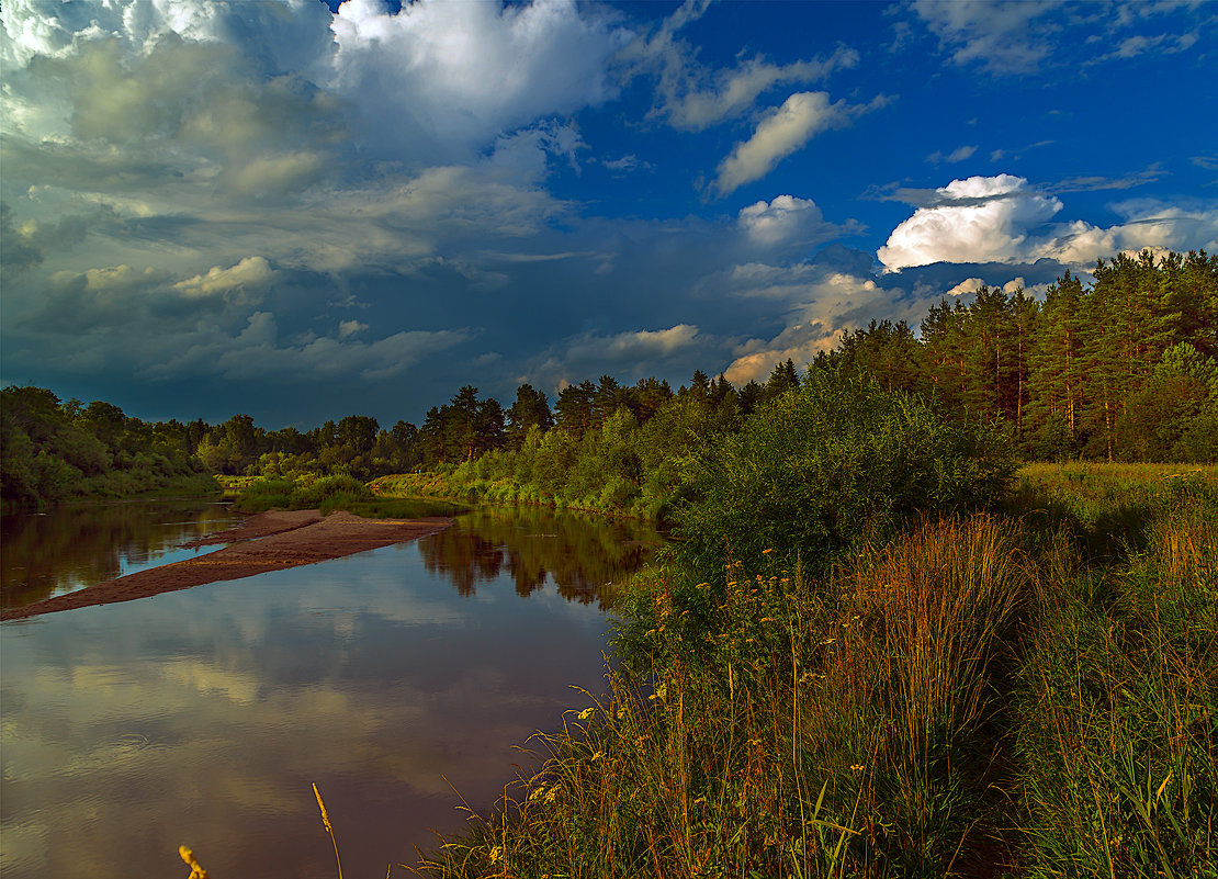
[[[435,877],[1218,877],[1218,468],[1028,465],[806,573],[630,590]]]

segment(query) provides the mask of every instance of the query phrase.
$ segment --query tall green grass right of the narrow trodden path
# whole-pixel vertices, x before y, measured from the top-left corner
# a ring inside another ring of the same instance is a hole
[[[1032,875],[1218,875],[1218,526],[1178,503],[1041,590],[1018,749]]]

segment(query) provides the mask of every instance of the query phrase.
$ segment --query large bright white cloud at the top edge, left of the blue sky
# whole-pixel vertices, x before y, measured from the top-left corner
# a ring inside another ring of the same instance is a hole
[[[348,0],[333,30],[331,86],[369,110],[368,147],[430,159],[471,155],[504,131],[614,97],[607,62],[633,38],[571,0],[417,2],[396,13]]]

